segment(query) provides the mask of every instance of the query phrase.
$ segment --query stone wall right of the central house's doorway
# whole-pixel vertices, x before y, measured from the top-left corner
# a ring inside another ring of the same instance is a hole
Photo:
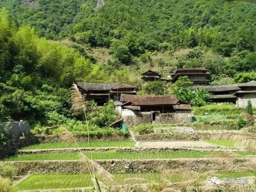
[[[188,112],[177,112],[177,113],[161,113],[160,122],[162,124],[185,124],[190,123],[192,114]]]

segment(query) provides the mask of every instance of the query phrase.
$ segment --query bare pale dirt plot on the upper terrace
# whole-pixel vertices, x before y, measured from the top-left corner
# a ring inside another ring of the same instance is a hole
[[[202,147],[217,147],[217,145],[210,144],[203,141],[155,141],[155,142],[140,141],[139,147],[202,148]]]

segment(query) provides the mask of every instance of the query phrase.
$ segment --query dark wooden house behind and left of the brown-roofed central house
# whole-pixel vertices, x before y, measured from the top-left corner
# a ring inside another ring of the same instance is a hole
[[[86,100],[94,100],[98,106],[103,106],[110,99],[119,102],[121,94],[136,94],[134,86],[113,82],[113,83],[88,83],[78,82],[78,89]]]

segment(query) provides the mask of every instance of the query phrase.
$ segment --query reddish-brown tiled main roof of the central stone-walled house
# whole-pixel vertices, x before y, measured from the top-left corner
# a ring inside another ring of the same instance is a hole
[[[139,106],[157,106],[157,105],[174,105],[178,103],[176,95],[153,95],[153,96],[138,96],[121,94],[121,102],[132,102]]]

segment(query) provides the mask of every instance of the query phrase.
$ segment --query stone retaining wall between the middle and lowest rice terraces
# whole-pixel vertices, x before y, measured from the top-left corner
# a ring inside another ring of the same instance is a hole
[[[159,173],[168,169],[193,171],[240,170],[246,158],[197,158],[197,159],[154,159],[154,160],[96,160],[110,173]],[[25,174],[86,174],[88,168],[82,161],[19,161],[0,162],[17,168],[18,175]]]

